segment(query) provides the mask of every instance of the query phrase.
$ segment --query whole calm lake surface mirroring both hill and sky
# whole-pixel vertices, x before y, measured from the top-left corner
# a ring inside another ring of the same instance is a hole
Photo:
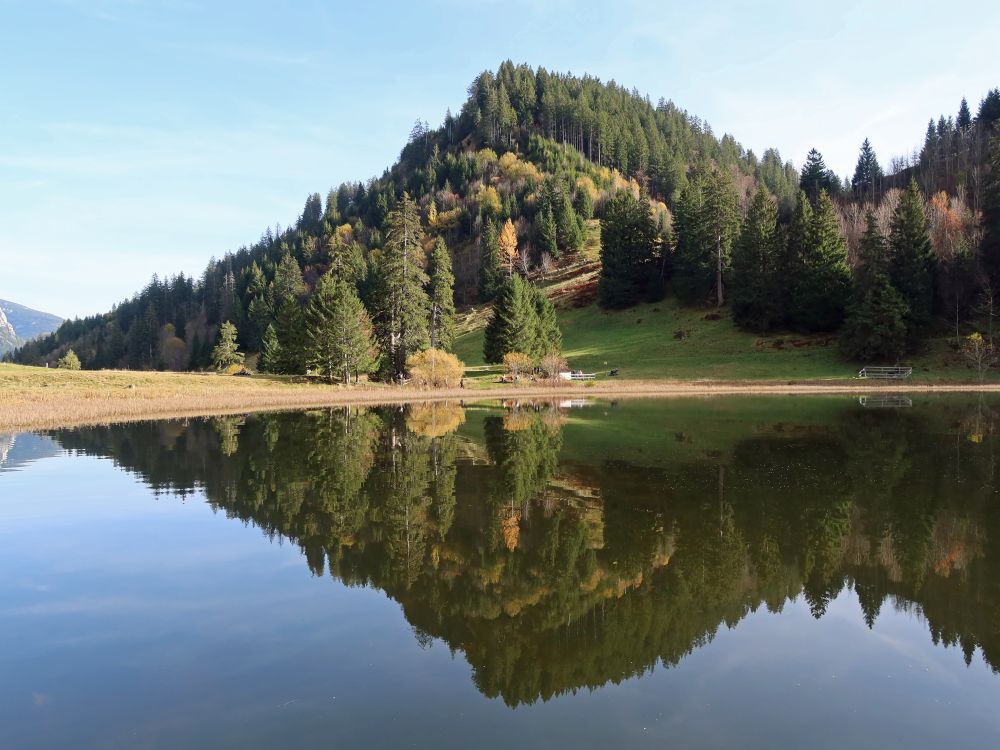
[[[0,747],[997,747],[998,451],[978,397],[0,435]]]

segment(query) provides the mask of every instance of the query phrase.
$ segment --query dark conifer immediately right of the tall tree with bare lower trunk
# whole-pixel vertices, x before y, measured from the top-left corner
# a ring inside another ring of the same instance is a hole
[[[766,333],[781,319],[778,205],[757,188],[733,248],[733,321]]]

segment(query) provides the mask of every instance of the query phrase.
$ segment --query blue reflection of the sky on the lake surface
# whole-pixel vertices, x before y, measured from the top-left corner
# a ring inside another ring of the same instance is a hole
[[[0,746],[987,747],[1000,683],[919,614],[765,607],[671,668],[507,708],[379,590],[107,459],[0,477]],[[637,667],[642,665],[637,665]]]

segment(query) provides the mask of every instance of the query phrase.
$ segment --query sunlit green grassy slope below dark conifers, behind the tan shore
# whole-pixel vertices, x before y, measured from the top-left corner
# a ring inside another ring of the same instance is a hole
[[[483,308],[463,320],[456,354],[480,377],[483,366]],[[757,336],[737,329],[729,312],[691,309],[672,299],[624,311],[596,304],[559,310],[563,351],[573,369],[607,373],[617,367],[626,379],[834,380],[849,381],[858,365],[845,362],[835,336],[776,333]],[[932,339],[927,351],[907,359],[913,381],[971,382],[976,374],[950,346]],[[989,376],[996,382],[997,375]]]

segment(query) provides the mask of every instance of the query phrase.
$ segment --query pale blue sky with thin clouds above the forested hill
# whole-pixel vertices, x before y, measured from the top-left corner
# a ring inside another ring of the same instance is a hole
[[[816,7],[822,5],[823,7]],[[1000,3],[0,0],[0,298],[107,309],[380,174],[506,58],[840,174],[1000,85]],[[807,7],[808,6],[808,7]]]

